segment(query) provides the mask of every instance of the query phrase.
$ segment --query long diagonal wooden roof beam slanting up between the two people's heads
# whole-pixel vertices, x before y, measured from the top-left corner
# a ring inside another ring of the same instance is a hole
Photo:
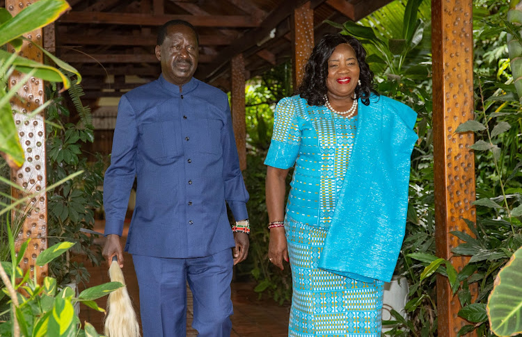
[[[315,8],[323,3],[325,0],[312,0],[310,1],[310,7]],[[216,72],[219,71],[223,65],[226,65],[233,56],[242,54],[247,49],[255,46],[260,40],[269,35],[270,31],[274,29],[280,22],[289,17],[294,8],[301,6],[301,4],[306,3],[303,0],[287,0],[283,1],[283,3],[276,9],[274,9],[259,25],[258,28],[253,29],[245,33],[241,38],[238,38],[230,44],[230,46],[226,47],[221,51],[219,56],[205,69],[201,69],[200,74],[209,79]]]

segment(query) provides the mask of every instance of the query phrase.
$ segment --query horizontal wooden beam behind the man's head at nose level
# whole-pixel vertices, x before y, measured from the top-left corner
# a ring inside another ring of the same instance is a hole
[[[213,56],[200,55],[199,63],[212,62]],[[67,63],[159,63],[154,54],[65,54]]]

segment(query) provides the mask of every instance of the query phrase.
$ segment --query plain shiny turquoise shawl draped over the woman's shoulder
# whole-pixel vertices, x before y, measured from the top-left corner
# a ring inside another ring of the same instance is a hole
[[[358,109],[354,148],[319,268],[389,282],[404,239],[417,113],[383,96]]]

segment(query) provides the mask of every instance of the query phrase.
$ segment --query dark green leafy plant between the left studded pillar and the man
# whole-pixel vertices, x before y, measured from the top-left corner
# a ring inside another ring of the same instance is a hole
[[[103,202],[104,158],[97,155],[97,161],[88,163],[87,156],[81,149],[85,142],[93,142],[94,131],[91,124],[90,108],[81,103],[80,97],[84,94],[79,85],[70,76],[70,94],[74,108],[80,116],[79,122],[65,122],[70,118],[70,111],[64,97],[56,97],[56,87],[49,88],[48,99],[52,104],[47,108],[47,181],[54,183],[63,177],[84,171],[77,179],[70,179],[49,193],[47,206],[49,245],[59,240],[76,242],[71,254],[85,254],[88,260],[99,265],[102,260],[100,247],[93,245],[94,237],[86,235],[81,229],[93,229],[95,225],[95,209],[100,208]],[[70,261],[70,254],[56,258],[49,264],[52,275],[58,284],[71,282],[88,282],[90,274],[83,263]]]

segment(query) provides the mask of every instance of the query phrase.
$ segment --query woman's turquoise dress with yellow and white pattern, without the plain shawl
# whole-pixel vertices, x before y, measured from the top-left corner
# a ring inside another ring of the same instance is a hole
[[[357,117],[308,106],[297,96],[282,99],[274,113],[264,163],[281,169],[295,164],[285,215],[293,287],[288,336],[381,336],[383,282],[317,268],[356,126]]]

